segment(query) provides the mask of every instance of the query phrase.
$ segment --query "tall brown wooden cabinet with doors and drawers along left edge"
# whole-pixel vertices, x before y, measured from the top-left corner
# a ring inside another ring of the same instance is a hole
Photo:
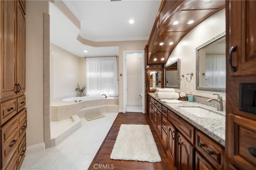
[[[25,1],[0,1],[1,170],[20,169],[26,152]]]

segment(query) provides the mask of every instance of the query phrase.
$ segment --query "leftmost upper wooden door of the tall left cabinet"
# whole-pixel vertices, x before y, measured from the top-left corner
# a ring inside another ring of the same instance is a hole
[[[1,99],[16,92],[16,1],[0,1]]]

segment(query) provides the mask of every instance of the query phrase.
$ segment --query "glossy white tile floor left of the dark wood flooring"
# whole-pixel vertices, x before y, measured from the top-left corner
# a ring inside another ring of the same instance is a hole
[[[86,121],[60,144],[25,157],[21,170],[86,170],[118,113]]]

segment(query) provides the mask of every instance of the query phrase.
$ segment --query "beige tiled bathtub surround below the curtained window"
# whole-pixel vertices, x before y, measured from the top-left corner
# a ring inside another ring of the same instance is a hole
[[[106,112],[118,113],[118,109],[118,97],[81,102],[56,101],[51,103],[51,121],[70,119],[72,115],[84,117]]]

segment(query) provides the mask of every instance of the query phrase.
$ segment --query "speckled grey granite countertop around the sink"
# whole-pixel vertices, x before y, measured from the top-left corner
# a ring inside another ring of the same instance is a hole
[[[154,93],[148,94],[156,99]],[[191,125],[194,125],[194,127],[198,128],[205,134],[208,134],[208,136],[219,142],[222,146],[225,146],[226,113],[224,111],[217,111],[214,107],[196,102],[182,101],[181,103],[164,103],[158,99],[156,100],[182,117]],[[201,107],[220,116],[213,118],[198,117],[185,111],[182,107]]]

